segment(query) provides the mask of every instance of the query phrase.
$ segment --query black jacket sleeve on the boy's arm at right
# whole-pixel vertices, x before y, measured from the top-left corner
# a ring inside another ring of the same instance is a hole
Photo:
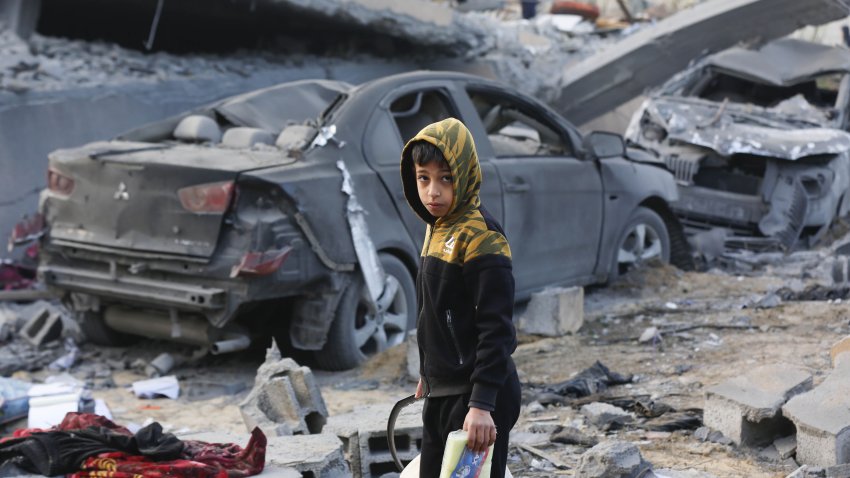
[[[478,334],[469,405],[493,411],[496,395],[513,368],[511,353],[517,343],[511,260],[489,254],[467,262],[463,269],[467,290],[473,296]]]

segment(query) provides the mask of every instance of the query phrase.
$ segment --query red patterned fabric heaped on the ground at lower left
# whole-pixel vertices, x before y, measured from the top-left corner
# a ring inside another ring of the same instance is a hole
[[[88,458],[82,471],[69,478],[241,478],[263,472],[266,461],[266,436],[259,428],[243,449],[232,443],[184,441],[184,459],[148,461],[126,453],[101,453]]]

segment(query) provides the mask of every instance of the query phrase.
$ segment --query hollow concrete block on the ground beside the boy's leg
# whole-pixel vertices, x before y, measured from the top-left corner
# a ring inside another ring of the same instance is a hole
[[[420,400],[403,408],[396,420],[396,452],[403,463],[413,460],[422,449],[423,403]],[[392,407],[393,403],[375,404],[328,418],[325,432],[342,439],[354,476],[381,476],[398,471],[387,442],[387,417]]]

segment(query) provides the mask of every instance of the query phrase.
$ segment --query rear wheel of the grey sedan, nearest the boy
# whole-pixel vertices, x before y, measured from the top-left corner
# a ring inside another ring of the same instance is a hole
[[[328,340],[316,352],[319,368],[348,370],[371,355],[404,341],[416,324],[416,286],[407,267],[389,254],[380,254],[381,265],[397,287],[385,301],[383,312],[370,311],[368,289],[358,274],[343,291]]]

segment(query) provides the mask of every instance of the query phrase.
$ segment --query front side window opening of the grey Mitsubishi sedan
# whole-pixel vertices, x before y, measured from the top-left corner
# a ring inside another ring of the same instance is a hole
[[[496,157],[572,155],[560,129],[539,111],[507,95],[476,89],[467,92]]]

